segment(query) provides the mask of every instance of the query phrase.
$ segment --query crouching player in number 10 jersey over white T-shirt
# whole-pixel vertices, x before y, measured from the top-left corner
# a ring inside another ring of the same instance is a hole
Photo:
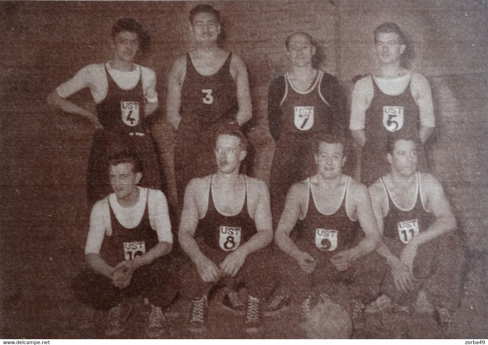
[[[114,192],[93,207],[85,247],[89,269],[75,279],[75,295],[93,309],[109,310],[106,335],[123,331],[132,308],[127,298],[142,295],[151,303],[146,334],[160,337],[162,307],[176,292],[167,255],[173,238],[166,198],[137,186],[142,173],[134,157],[116,157],[108,165]]]

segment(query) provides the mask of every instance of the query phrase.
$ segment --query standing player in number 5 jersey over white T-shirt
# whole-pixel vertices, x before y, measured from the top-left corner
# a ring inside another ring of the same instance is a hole
[[[435,125],[427,79],[404,68],[406,38],[397,24],[386,22],[374,30],[379,68],[356,82],[352,92],[349,128],[363,147],[361,182],[369,186],[389,172],[386,140],[389,134],[416,135],[425,143]],[[423,147],[418,148],[419,169],[427,169]]]

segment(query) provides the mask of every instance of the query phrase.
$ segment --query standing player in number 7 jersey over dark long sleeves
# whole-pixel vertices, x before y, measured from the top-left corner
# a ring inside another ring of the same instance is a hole
[[[271,82],[268,94],[269,130],[276,141],[269,177],[275,223],[288,189],[313,169],[312,137],[344,135],[347,128],[346,98],[335,77],[312,65],[316,47],[310,35],[295,33],[285,46],[293,66]]]

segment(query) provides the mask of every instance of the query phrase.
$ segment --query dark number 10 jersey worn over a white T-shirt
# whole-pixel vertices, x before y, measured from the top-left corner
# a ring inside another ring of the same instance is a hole
[[[149,191],[147,191],[149,197]],[[149,222],[148,199],[141,222],[134,229],[127,229],[122,226],[115,216],[110,201],[110,223],[112,236],[105,236],[102,243],[100,256],[110,266],[116,266],[122,260],[131,260],[136,256],[142,256],[159,243],[158,233],[151,228]]]

